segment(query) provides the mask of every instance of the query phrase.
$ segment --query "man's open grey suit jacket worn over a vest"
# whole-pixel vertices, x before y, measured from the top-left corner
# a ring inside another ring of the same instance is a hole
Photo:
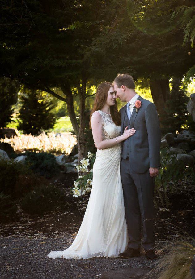
[[[129,137],[129,164],[137,173],[144,173],[150,167],[160,167],[160,125],[159,117],[155,104],[143,99],[139,96],[142,102],[141,107],[136,113],[134,108],[129,129],[134,128],[136,132]],[[121,135],[124,132],[124,121],[126,114],[126,105],[120,109],[121,113]],[[123,142],[121,143],[122,156]]]

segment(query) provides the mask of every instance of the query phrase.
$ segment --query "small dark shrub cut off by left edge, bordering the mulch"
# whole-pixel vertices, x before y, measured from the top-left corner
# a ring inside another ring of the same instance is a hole
[[[10,217],[15,215],[17,210],[17,206],[15,205],[15,201],[11,199],[10,195],[5,195],[3,192],[0,193],[0,219],[5,219],[6,217]]]

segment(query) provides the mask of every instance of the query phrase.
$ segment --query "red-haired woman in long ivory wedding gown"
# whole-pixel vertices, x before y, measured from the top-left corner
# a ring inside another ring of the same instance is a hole
[[[51,251],[49,258],[112,258],[127,248],[119,143],[135,130],[126,127],[120,135],[120,118],[112,83],[101,83],[90,119],[97,153],[87,209],[72,245],[64,251]]]

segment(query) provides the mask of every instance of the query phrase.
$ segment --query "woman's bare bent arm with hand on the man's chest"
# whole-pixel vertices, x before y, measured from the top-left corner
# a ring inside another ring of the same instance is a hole
[[[127,130],[127,127],[125,128],[125,131],[123,135],[120,135],[113,139],[104,140],[103,139],[103,119],[100,113],[94,112],[91,117],[91,129],[93,134],[93,140],[95,143],[96,148],[98,149],[105,149],[111,146],[114,146],[121,141],[128,139],[130,136],[132,136],[135,133],[135,129],[129,129]]]

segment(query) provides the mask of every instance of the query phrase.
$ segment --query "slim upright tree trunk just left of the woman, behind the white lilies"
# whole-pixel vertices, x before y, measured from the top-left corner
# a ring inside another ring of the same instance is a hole
[[[86,95],[87,79],[83,75],[82,84],[77,85],[78,95],[80,99],[80,124],[78,134],[78,162],[87,157],[87,139],[85,137],[85,95]]]

